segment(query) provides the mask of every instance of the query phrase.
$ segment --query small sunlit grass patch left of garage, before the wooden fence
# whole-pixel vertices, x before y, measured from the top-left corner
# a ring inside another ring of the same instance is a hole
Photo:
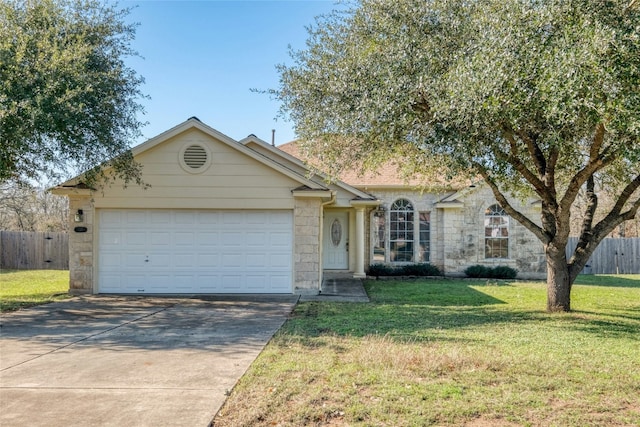
[[[66,270],[0,270],[0,312],[68,298]]]

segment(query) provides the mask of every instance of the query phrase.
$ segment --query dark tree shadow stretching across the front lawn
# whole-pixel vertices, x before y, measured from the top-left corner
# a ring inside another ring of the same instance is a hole
[[[486,283],[486,282],[484,282]],[[640,314],[618,312],[572,312],[549,314],[540,309],[515,306],[482,292],[482,281],[366,282],[370,304],[299,304],[283,333],[302,342],[326,335],[364,337],[386,335],[395,340],[451,340],[447,330],[495,325],[496,328],[549,327],[587,332],[599,337],[636,337]],[[501,286],[507,295],[538,292],[508,282]],[[493,292],[495,294],[495,292]],[[486,330],[486,329],[485,329]],[[472,339],[472,338],[469,338]],[[460,338],[456,338],[457,341]],[[314,345],[309,341],[310,345]],[[315,344],[317,345],[317,343]]]

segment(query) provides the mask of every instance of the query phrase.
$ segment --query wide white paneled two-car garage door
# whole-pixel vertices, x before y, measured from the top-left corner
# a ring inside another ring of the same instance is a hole
[[[291,211],[99,210],[101,293],[291,293]]]

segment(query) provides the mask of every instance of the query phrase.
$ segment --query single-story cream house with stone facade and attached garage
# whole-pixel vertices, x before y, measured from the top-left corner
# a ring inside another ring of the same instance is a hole
[[[150,188],[53,189],[69,198],[72,293],[316,294],[325,271],[365,277],[376,262],[545,271],[483,185],[423,192],[392,170],[327,182],[295,143],[236,141],[195,117],[132,151]]]

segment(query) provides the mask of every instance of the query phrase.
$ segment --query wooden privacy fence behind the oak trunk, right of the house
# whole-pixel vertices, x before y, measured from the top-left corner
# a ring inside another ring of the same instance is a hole
[[[578,244],[570,237],[567,256]],[[585,274],[640,274],[640,238],[606,238],[596,248],[582,270]]]

